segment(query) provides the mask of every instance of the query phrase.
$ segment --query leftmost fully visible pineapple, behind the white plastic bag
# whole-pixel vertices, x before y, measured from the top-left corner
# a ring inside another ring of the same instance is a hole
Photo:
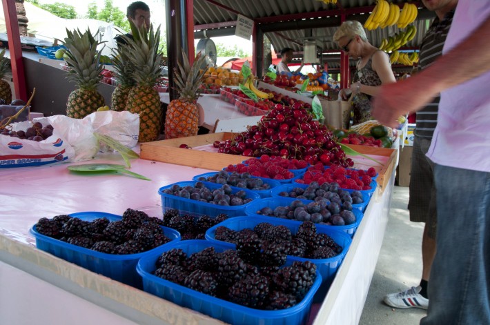
[[[77,83],[78,89],[73,90],[68,96],[66,115],[75,119],[82,119],[97,108],[104,106],[104,97],[97,92],[97,86],[102,79],[100,64],[101,53],[97,53],[100,44],[92,37],[90,29],[83,34],[80,30],[66,30],[65,41],[66,63],[71,68],[68,79]]]

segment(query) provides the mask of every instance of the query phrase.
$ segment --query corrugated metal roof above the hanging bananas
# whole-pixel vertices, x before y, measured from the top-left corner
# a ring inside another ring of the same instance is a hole
[[[393,0],[391,2],[402,4],[406,1]],[[422,7],[420,3],[416,4],[419,8]],[[233,22],[237,20],[237,14],[242,14],[259,21],[263,30],[274,30],[265,32],[264,35],[271,41],[276,52],[280,52],[285,47],[293,48],[300,57],[305,39],[315,39],[319,52],[338,50],[337,45],[333,42],[333,34],[340,24],[339,14],[347,12],[349,14],[347,19],[364,22],[368,15],[363,14],[362,10],[369,6],[375,6],[375,0],[339,0],[337,5],[317,0],[195,0],[194,24],[198,27],[212,27],[210,29],[215,31],[219,29],[222,35],[234,35],[233,26],[235,24]],[[315,16],[315,12],[318,12],[318,17]],[[308,14],[308,18],[300,18],[301,14]],[[278,17],[284,21],[277,21]],[[433,17],[435,17],[433,13],[425,9],[419,10],[419,17],[414,23],[417,35],[406,44],[406,47],[420,47],[422,37]],[[338,23],[335,23],[336,21]],[[325,27],[329,24],[331,26]],[[307,28],[301,28],[305,25]],[[281,26],[285,26],[285,30],[281,30]],[[295,26],[300,27],[295,28]],[[366,30],[367,37],[373,46],[380,46],[383,38],[395,35],[397,32],[399,29],[396,26]],[[338,57],[329,56],[327,61],[329,66],[340,66]]]

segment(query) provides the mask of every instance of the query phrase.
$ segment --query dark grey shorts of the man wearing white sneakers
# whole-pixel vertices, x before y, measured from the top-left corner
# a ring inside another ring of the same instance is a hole
[[[437,210],[435,209],[435,184],[433,162],[426,157],[431,146],[430,139],[415,136],[410,172],[410,221],[425,222],[428,235],[435,238]]]

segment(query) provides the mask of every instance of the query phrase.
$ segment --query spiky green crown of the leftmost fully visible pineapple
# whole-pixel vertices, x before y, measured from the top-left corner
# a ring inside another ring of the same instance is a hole
[[[104,42],[98,42],[90,28],[83,33],[80,30],[72,32],[67,28],[66,35],[64,41],[60,41],[67,49],[65,61],[71,68],[68,79],[83,90],[95,90],[104,68],[100,63],[101,51],[97,52],[97,46]]]

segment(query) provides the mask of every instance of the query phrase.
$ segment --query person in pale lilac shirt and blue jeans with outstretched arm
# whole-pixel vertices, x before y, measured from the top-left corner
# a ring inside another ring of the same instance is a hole
[[[427,157],[434,162],[437,253],[420,324],[490,324],[490,6],[459,0],[442,56],[382,86],[373,116],[387,126],[440,93]]]

